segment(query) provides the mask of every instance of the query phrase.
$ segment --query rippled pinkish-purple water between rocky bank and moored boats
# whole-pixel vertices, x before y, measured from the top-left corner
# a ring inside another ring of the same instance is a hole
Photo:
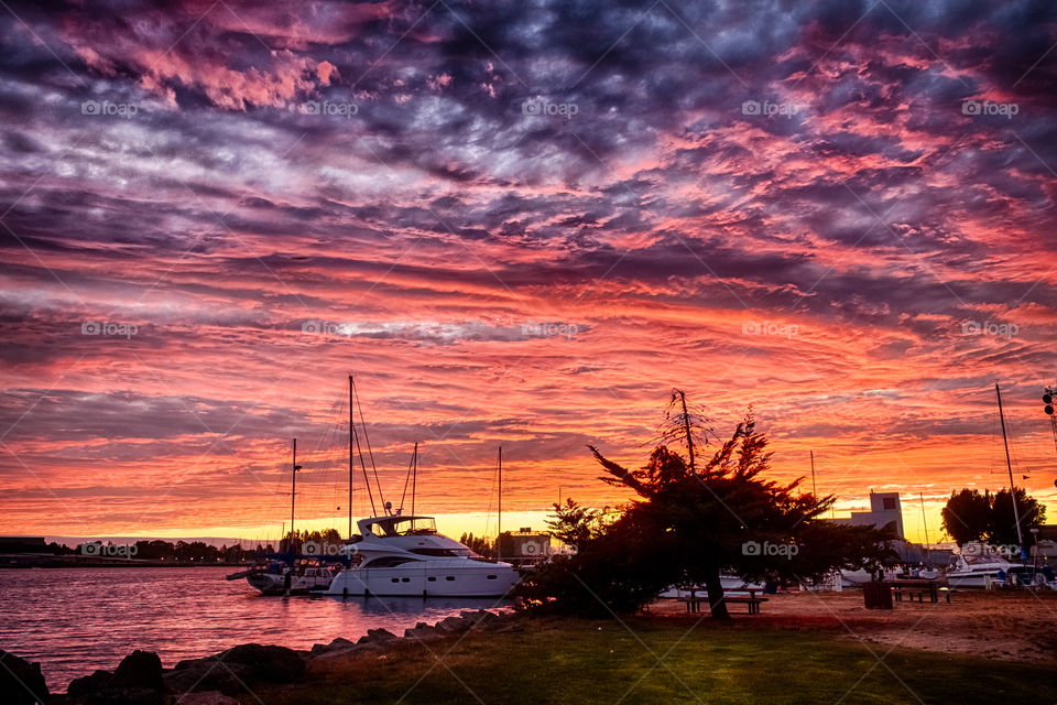
[[[403,634],[490,599],[262,597],[236,567],[0,571],[0,649],[40,661],[48,688],[95,669],[113,670],[133,649],[172,666],[239,643],[307,649],[384,627]]]

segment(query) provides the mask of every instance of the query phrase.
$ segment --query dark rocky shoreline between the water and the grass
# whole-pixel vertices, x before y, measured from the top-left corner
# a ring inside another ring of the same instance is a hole
[[[74,679],[65,694],[51,694],[39,663],[0,650],[0,693],[7,703],[33,705],[237,705],[236,696],[254,685],[281,685],[306,679],[314,665],[377,653],[401,643],[421,643],[464,634],[471,629],[500,629],[517,614],[465,610],[435,625],[418,622],[403,637],[385,629],[369,629],[357,641],[335,639],[308,651],[246,643],[201,659],[185,659],[162,668],[156,653],[133,651],[113,671],[96,671]]]

